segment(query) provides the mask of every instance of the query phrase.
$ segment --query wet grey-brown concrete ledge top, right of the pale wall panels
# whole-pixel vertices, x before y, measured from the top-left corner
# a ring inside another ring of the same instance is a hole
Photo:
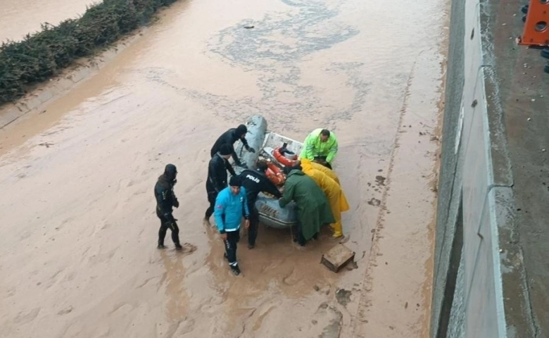
[[[549,337],[549,75],[517,46],[528,1],[481,5],[488,125],[507,337]],[[549,6],[549,5],[545,5]]]

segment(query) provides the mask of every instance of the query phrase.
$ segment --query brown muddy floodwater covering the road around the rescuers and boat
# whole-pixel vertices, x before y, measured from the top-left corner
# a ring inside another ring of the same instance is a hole
[[[427,337],[444,1],[183,1],[161,16],[0,130],[0,337]],[[255,114],[294,139],[336,133],[357,268],[320,264],[329,234],[298,249],[261,227],[229,272],[204,180],[217,136]],[[169,236],[156,249],[166,163],[193,252]]]

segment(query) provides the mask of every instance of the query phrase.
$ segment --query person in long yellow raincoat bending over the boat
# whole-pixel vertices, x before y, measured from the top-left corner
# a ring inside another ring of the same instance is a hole
[[[341,213],[343,211],[349,210],[347,198],[345,194],[343,194],[343,190],[339,186],[339,180],[334,180],[332,177],[330,177],[331,174],[324,173],[323,170],[313,168],[313,165],[310,165],[311,163],[313,162],[307,160],[306,158],[302,158],[301,164],[296,165],[296,167],[301,169],[301,171],[303,171],[305,175],[311,177],[328,198],[330,208],[332,209],[332,213],[334,214],[334,218],[336,219],[336,223],[333,223],[330,226],[334,230],[334,237],[341,237],[343,236]],[[334,176],[335,173],[333,171],[332,173],[332,176]],[[335,178],[337,179],[337,175],[335,175]]]

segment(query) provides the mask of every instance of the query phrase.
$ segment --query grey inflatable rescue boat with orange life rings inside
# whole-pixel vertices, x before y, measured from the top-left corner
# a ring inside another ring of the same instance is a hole
[[[242,142],[237,142],[235,146],[236,155],[239,156],[242,163],[246,163],[249,169],[255,170],[255,163],[258,160],[267,161],[269,169],[267,177],[282,188],[286,177],[282,169],[286,165],[294,165],[298,154],[301,152],[303,144],[294,139],[289,139],[280,134],[267,131],[267,120],[261,115],[253,115],[246,121],[248,132],[246,140],[248,146],[256,149],[255,153],[246,151]],[[239,166],[234,167],[236,175],[244,170]],[[260,223],[267,227],[276,227],[284,229],[297,224],[296,204],[291,201],[285,208],[281,208],[278,200],[273,196],[267,196],[260,193],[255,207],[259,211]]]

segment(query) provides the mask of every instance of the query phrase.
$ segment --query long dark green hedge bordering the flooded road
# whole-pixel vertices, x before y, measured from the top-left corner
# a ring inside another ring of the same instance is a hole
[[[177,0],[104,0],[78,19],[42,31],[20,42],[0,46],[0,104],[20,98],[33,84],[48,80],[77,58],[118,40],[149,23],[156,10]]]

